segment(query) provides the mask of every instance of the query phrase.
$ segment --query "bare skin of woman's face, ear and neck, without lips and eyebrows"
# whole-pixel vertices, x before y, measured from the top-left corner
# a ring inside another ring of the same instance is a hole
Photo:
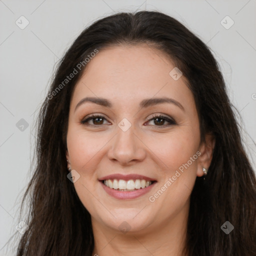
[[[169,75],[174,67],[169,57],[147,45],[111,46],[87,63],[74,88],[66,157],[68,167],[80,175],[74,187],[91,214],[92,255],[181,255],[190,193],[196,176],[203,175],[202,167],[210,165],[214,139],[207,135],[206,143],[200,144],[193,95],[185,77],[174,80]],[[75,109],[88,96],[106,98],[112,107],[86,102]],[[164,96],[178,101],[184,110],[173,103],[139,107],[145,98]],[[91,125],[81,124],[93,113],[105,119],[100,124],[95,119],[88,121]],[[167,115],[176,124],[148,121],[152,114]],[[123,118],[131,124],[125,132],[118,126]],[[200,156],[158,198],[149,201],[196,151]],[[108,195],[98,181],[113,173],[138,173],[157,183],[136,199],[120,200]],[[118,228],[123,221],[130,228],[127,232]]]

